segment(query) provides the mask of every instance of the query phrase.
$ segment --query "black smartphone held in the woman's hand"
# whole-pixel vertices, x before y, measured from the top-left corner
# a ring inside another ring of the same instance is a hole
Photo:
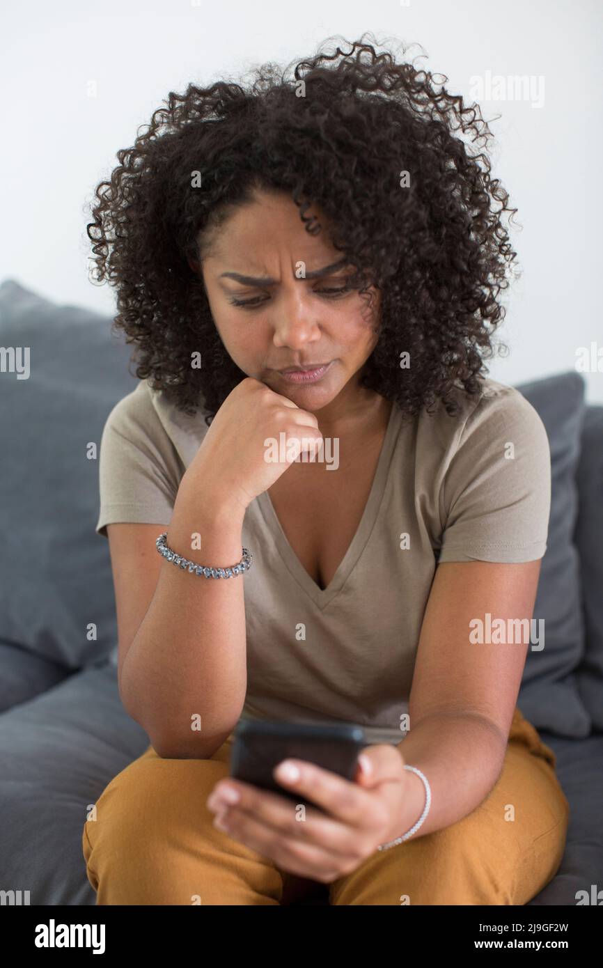
[[[323,726],[241,719],[234,729],[230,775],[295,803],[303,803],[305,800],[299,793],[287,790],[272,775],[279,763],[286,759],[307,760],[353,782],[358,754],[368,744],[362,727],[353,723]],[[313,806],[320,809],[317,803]]]

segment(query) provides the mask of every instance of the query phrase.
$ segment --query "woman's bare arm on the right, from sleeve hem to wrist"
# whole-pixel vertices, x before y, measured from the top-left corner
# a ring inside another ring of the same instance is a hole
[[[430,812],[413,838],[461,820],[497,782],[528,654],[528,637],[519,641],[517,633],[522,626],[507,620],[528,620],[529,627],[539,574],[540,560],[437,567],[408,702],[410,731],[398,744],[432,790]],[[487,613],[514,629],[513,643],[470,640],[469,622],[485,621]],[[412,827],[425,804],[421,779],[406,773],[407,809],[391,839]]]

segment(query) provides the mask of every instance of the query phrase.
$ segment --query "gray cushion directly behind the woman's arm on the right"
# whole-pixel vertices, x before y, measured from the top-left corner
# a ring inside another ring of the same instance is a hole
[[[573,544],[578,510],[576,468],[585,416],[585,383],[570,371],[517,387],[536,409],[551,447],[551,517],[534,619],[544,620],[545,646],[528,650],[518,705],[536,729],[586,737],[590,717],[576,670],[584,655],[580,562]]]

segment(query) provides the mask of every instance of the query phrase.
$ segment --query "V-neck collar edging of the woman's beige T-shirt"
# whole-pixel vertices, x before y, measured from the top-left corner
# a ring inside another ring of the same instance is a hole
[[[365,504],[360,523],[356,529],[356,533],[351,539],[347,552],[344,558],[340,561],[337,571],[333,575],[333,578],[327,585],[326,589],[318,588],[317,583],[313,578],[310,577],[303,564],[291,548],[287,540],[286,533],[281,527],[281,522],[277,517],[268,492],[263,491],[257,497],[257,506],[259,507],[261,515],[264,519],[264,523],[274,535],[277,548],[281,558],[286,564],[286,567],[293,575],[297,583],[309,595],[309,597],[320,610],[326,608],[329,602],[331,602],[333,598],[335,598],[335,596],[344,588],[347,579],[358,563],[358,560],[360,559],[375,526],[378,512],[383,500],[385,484],[387,482],[387,469],[389,468],[390,458],[397,438],[396,430],[399,426],[400,412],[400,408],[398,408],[396,403],[393,402],[391,412],[389,414],[389,420],[387,422],[387,429],[381,444],[381,451],[379,453],[377,469],[373,478],[369,498]]]

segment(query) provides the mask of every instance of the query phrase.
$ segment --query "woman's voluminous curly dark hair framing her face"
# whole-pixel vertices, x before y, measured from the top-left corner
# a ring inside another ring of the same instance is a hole
[[[317,203],[356,268],[355,287],[380,290],[363,386],[407,414],[437,400],[453,414],[455,384],[481,390],[505,313],[497,296],[516,257],[500,220],[517,209],[506,207],[488,157],[455,135],[487,144],[479,107],[437,92],[432,74],[396,63],[391,49],[377,53],[366,36],[344,41],[347,53],[318,48],[292,76],[292,65],[267,63],[246,85],[170,92],[95,190],[92,278],[117,288],[112,330],[136,345],[136,377],[185,412],[202,399],[208,425],[247,375],[226,352],[193,266],[255,188],[286,192],[312,233],[321,227],[305,212]],[[401,370],[405,350],[411,366]]]

